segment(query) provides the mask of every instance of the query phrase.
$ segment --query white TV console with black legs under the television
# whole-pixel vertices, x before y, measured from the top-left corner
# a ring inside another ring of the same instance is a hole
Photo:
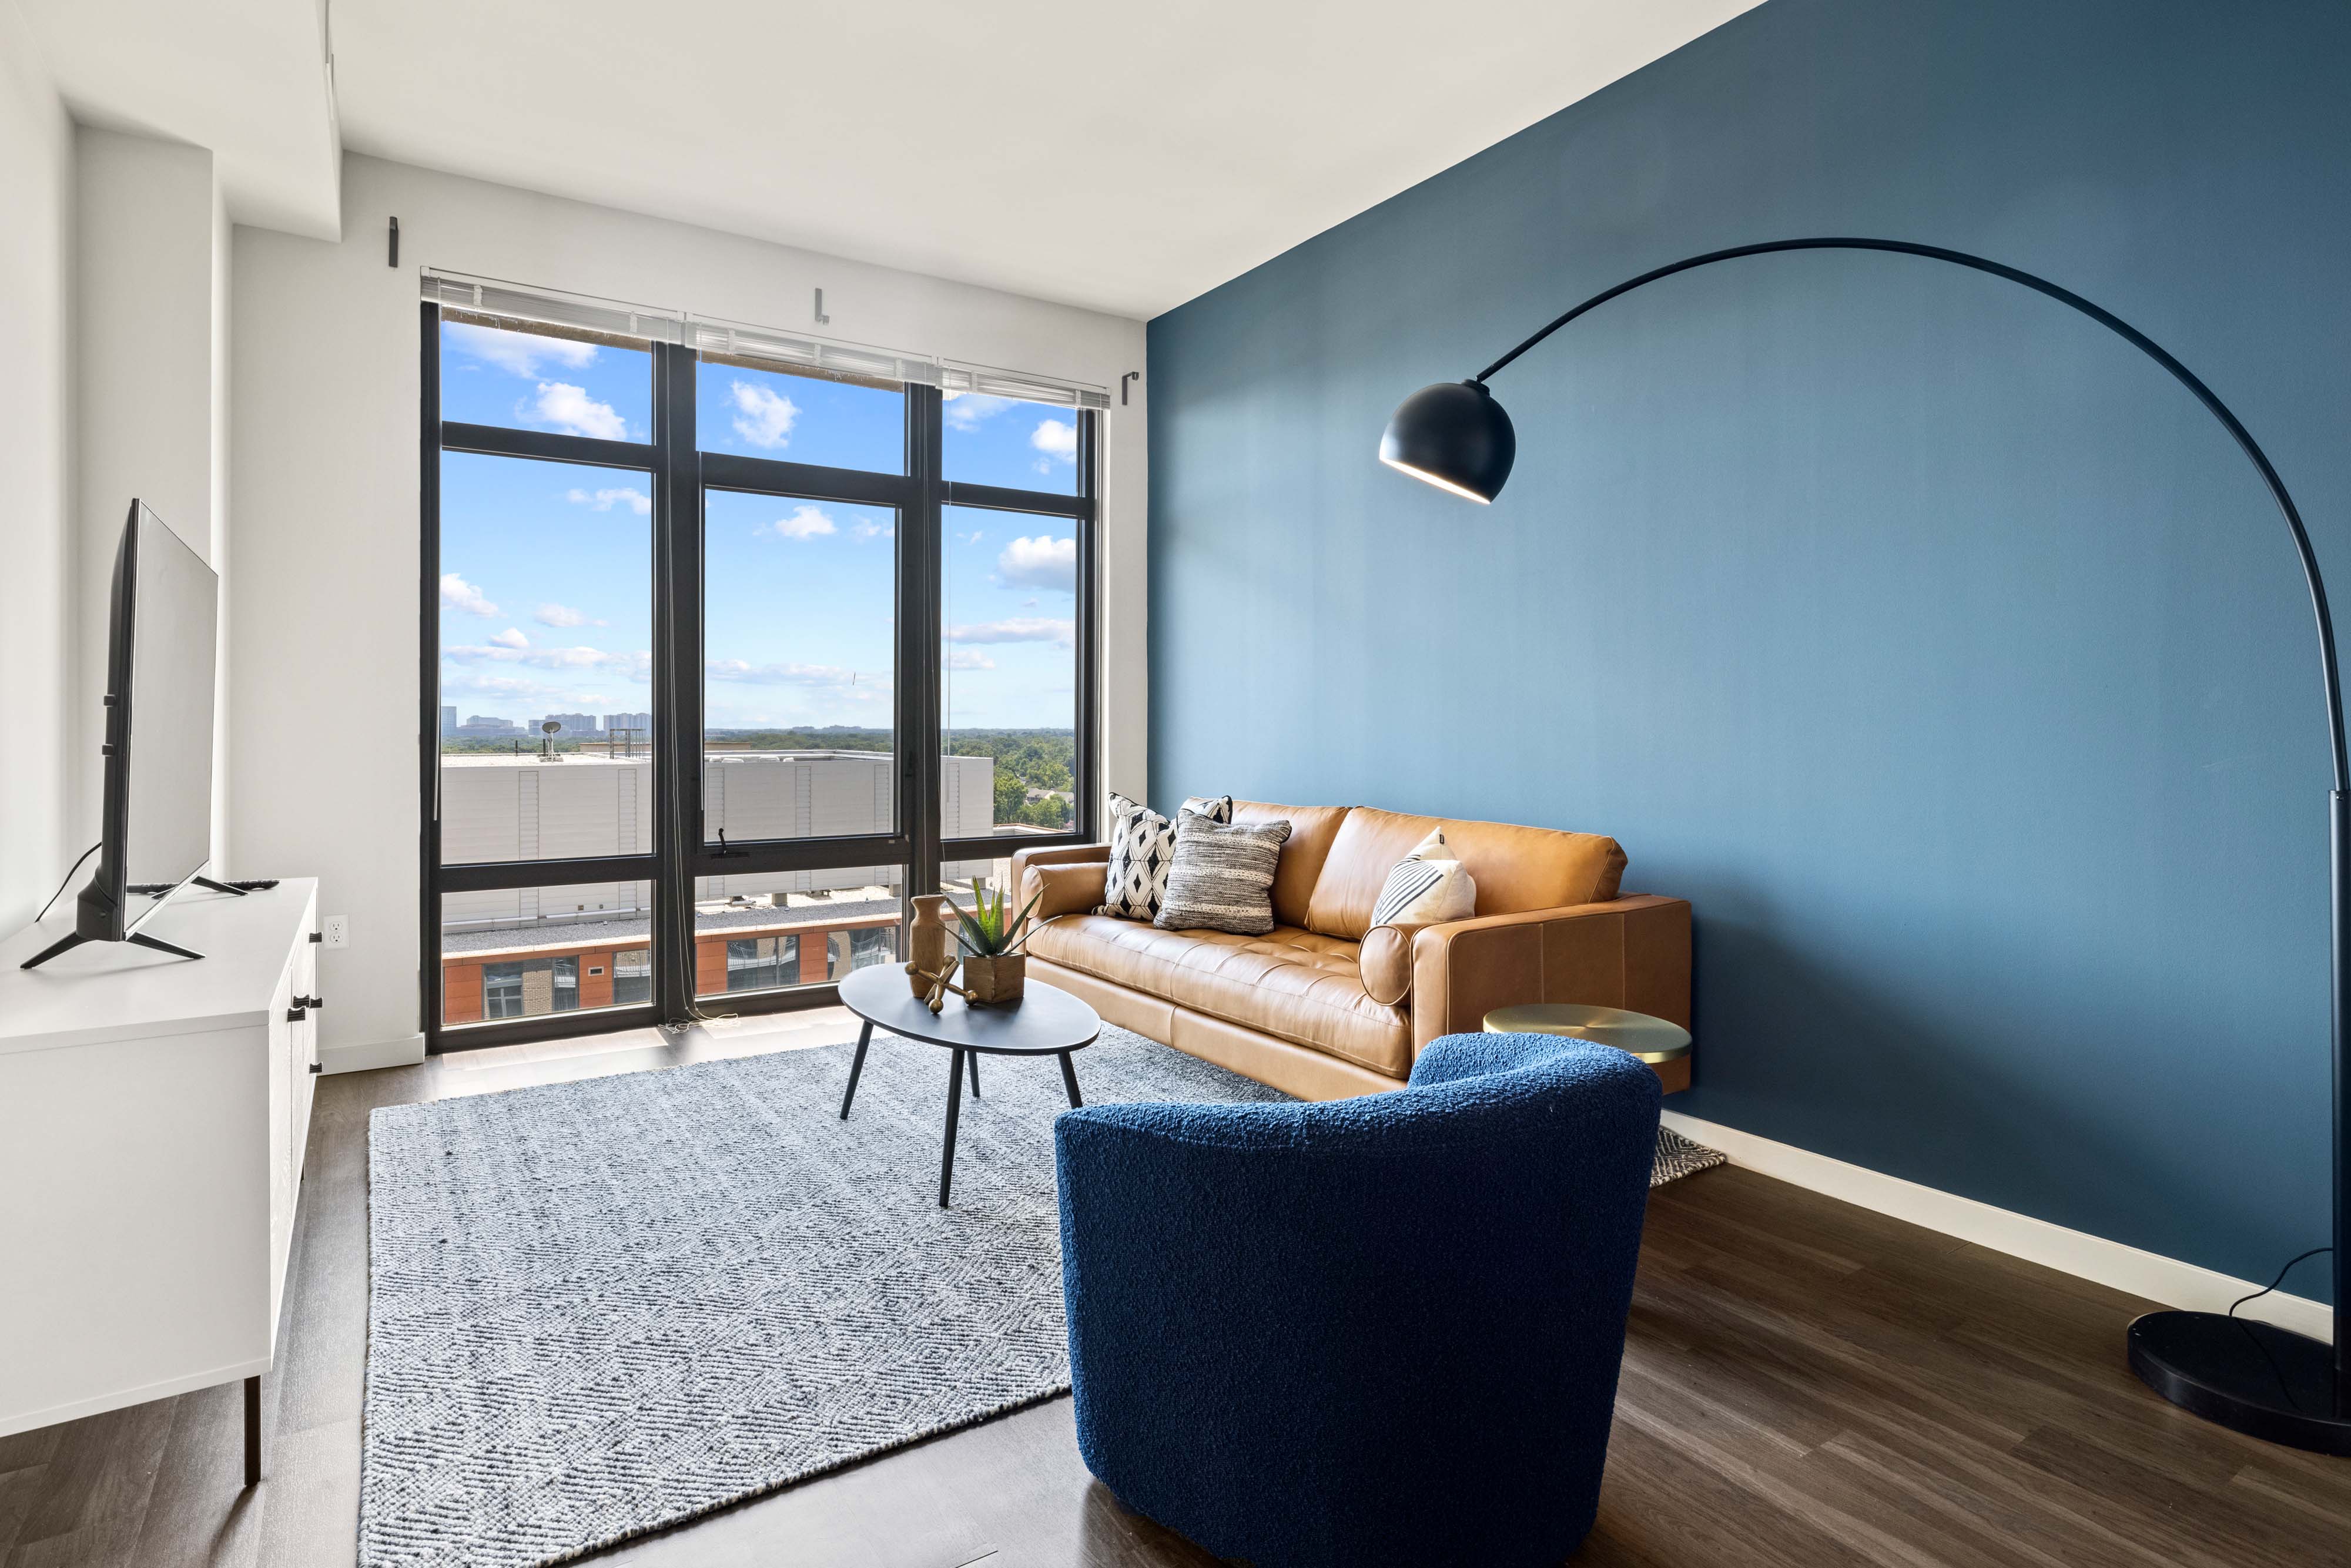
[[[277,1345],[317,1072],[317,882],[181,891],[202,959],[0,943],[0,1436],[245,1380]]]

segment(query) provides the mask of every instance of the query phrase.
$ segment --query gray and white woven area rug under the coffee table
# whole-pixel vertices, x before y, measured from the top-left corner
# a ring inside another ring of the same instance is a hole
[[[369,1124],[362,1568],[536,1568],[1070,1387],[1051,1058],[849,1046]],[[1119,1027],[1089,1103],[1284,1100]],[[1681,1175],[1721,1154],[1674,1133]],[[1690,1164],[1695,1152],[1702,1159]]]

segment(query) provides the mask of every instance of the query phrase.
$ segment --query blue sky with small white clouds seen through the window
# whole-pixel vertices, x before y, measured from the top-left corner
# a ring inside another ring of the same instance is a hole
[[[701,364],[701,447],[903,473],[900,393]],[[651,355],[442,324],[442,416],[651,440]],[[945,402],[950,480],[1077,491],[1070,409]],[[649,710],[651,484],[637,470],[442,456],[442,703],[458,717]],[[898,517],[710,491],[708,724],[886,726]],[[1077,534],[945,512],[950,729],[1067,729]]]

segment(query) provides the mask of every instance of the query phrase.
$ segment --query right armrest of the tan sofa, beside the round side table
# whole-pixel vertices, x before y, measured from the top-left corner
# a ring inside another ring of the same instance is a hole
[[[1413,1056],[1439,1034],[1474,1034],[1486,1013],[1521,1001],[1622,1006],[1690,1027],[1690,903],[1627,893],[1422,926],[1411,997]]]

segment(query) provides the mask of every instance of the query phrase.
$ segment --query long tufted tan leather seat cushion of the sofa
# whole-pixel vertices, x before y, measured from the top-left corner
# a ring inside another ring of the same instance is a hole
[[[1342,1060],[1406,1077],[1411,1013],[1373,1001],[1357,943],[1274,926],[1267,936],[1161,931],[1063,914],[1030,936],[1037,957]]]

